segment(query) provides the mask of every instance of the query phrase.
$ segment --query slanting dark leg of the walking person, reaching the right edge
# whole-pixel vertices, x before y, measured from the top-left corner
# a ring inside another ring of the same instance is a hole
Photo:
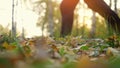
[[[115,32],[120,33],[120,19],[118,15],[110,9],[110,7],[103,0],[84,0],[88,7],[93,11],[98,12],[103,16],[108,24],[115,30]]]

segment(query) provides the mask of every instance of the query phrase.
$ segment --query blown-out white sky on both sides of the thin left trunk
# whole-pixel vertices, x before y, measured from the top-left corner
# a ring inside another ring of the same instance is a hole
[[[11,4],[12,0],[0,0],[0,24],[4,27],[10,24],[8,27],[9,29],[11,29]],[[15,11],[15,21],[17,22],[17,30],[22,32],[22,28],[24,28],[26,37],[40,36],[42,34],[41,30],[40,28],[36,27],[38,15],[33,11],[21,7],[21,5],[18,5],[16,9],[17,11]]]

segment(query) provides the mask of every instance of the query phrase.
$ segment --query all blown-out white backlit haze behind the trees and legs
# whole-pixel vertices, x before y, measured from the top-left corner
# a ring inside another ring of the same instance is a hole
[[[34,0],[35,1],[35,0]],[[54,0],[56,2],[61,2],[61,0]],[[107,3],[109,3],[109,0],[105,0]],[[118,0],[120,2],[120,0]],[[83,1],[81,0],[81,3]],[[59,7],[59,6],[58,6]],[[28,10],[25,5],[21,5],[21,1],[18,0],[18,5],[15,7],[15,21],[17,22],[17,30],[18,32],[22,31],[22,28],[24,27],[25,33],[27,37],[32,37],[32,36],[40,36],[41,29],[40,27],[36,27],[36,22],[38,19],[37,13]],[[118,4],[118,8],[120,8],[120,5]],[[92,12],[91,10],[85,11],[84,15],[82,14],[84,12],[83,9],[79,9],[79,16],[88,16],[88,19],[86,22],[89,22],[88,27],[90,27],[91,23],[91,15]],[[2,24],[4,27],[6,27],[8,24],[9,29],[11,29],[11,17],[12,17],[12,0],[0,0],[0,24]],[[82,20],[80,20],[82,22]]]

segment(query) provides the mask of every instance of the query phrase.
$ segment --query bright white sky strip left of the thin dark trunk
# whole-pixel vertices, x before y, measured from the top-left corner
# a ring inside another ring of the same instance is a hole
[[[0,24],[2,24],[4,27],[11,22],[12,6],[10,3],[11,0],[0,0]]]

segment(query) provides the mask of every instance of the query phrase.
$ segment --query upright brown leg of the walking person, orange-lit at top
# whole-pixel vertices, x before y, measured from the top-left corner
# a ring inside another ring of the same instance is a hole
[[[63,0],[60,6],[62,15],[61,36],[71,33],[73,25],[74,9],[79,0]]]

